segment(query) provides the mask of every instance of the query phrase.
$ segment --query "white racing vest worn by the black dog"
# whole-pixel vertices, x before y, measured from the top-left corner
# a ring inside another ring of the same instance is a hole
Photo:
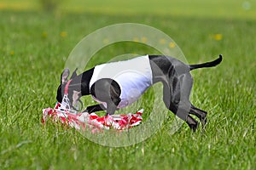
[[[135,102],[153,84],[152,70],[148,55],[102,65],[96,65],[90,79],[90,88],[94,82],[102,78],[111,78],[121,88],[118,108]],[[93,98],[95,99],[95,98]],[[98,102],[98,99],[95,99]],[[105,107],[107,104],[101,102]]]

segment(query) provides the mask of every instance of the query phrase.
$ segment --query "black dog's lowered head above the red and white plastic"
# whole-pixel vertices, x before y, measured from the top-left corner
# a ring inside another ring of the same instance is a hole
[[[65,88],[67,88],[67,98],[69,99],[70,106],[73,108],[75,105],[78,105],[79,103],[79,98],[81,97],[81,86],[79,84],[79,78],[77,76],[77,69],[73,71],[72,76],[70,77],[70,80],[72,80],[69,85],[67,86],[68,82],[68,77],[69,77],[69,69],[65,69],[61,73],[61,84],[57,89],[57,95],[56,99],[58,102],[61,103],[64,93],[65,93]]]

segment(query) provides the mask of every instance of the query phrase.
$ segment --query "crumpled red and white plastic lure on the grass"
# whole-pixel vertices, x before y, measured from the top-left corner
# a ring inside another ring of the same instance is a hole
[[[143,109],[135,114],[97,116],[96,113],[89,114],[88,112],[78,113],[73,111],[69,107],[69,102],[65,102],[64,105],[56,103],[53,109],[44,109],[42,122],[45,123],[51,119],[54,122],[61,122],[61,124],[74,127],[77,130],[90,129],[92,133],[100,132],[103,129],[121,131],[139,125],[143,121],[142,114]]]

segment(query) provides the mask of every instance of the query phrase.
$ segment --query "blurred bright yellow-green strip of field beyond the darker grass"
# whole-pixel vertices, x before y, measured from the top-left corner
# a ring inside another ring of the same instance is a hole
[[[101,14],[162,14],[212,18],[256,18],[254,0],[1,0],[0,9],[93,12]]]

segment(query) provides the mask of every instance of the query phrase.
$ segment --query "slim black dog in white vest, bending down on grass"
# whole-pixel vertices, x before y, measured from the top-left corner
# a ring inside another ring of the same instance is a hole
[[[168,110],[187,122],[196,130],[198,122],[189,114],[197,116],[202,126],[207,122],[207,111],[196,108],[189,101],[193,78],[189,71],[202,67],[212,67],[222,61],[222,55],[211,62],[199,65],[185,65],[178,59],[163,55],[145,55],[125,61],[96,65],[79,76],[73,72],[70,80],[69,70],[61,74],[61,85],[56,99],[61,102],[66,88],[71,105],[77,105],[79,98],[92,95],[99,105],[91,105],[85,111],[107,111],[114,114],[135,102],[150,86],[163,83],[163,100]]]

